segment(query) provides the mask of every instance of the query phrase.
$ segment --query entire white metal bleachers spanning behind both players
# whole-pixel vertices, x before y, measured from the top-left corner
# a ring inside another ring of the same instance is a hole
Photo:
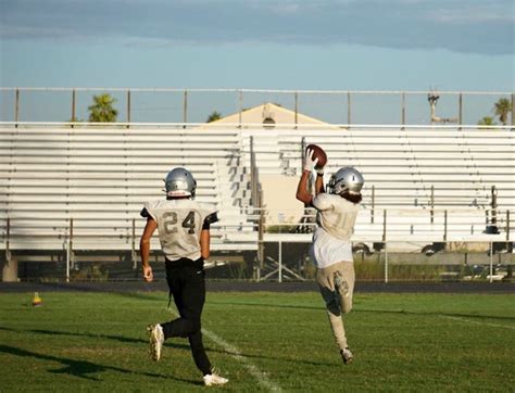
[[[327,176],[344,165],[364,174],[360,239],[380,241],[385,227],[393,240],[476,239],[488,221],[492,187],[501,228],[506,225],[505,212],[515,207],[512,134],[3,125],[0,248],[134,250],[145,225],[139,218],[143,202],[163,198],[165,174],[186,166],[198,179],[197,200],[213,203],[221,212],[223,219],[213,227],[214,250],[255,250],[259,206],[251,205],[250,154],[255,154],[261,174],[298,176],[302,143],[326,150]],[[442,212],[460,208],[467,208],[465,218],[449,216],[444,221]],[[387,226],[384,211],[389,212]],[[265,233],[265,240],[274,236]],[[309,236],[296,239],[309,241]]]

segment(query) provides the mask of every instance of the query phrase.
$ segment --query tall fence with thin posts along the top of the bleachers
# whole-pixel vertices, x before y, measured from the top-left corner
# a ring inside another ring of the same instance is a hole
[[[263,103],[291,111],[294,124],[307,115],[327,124],[477,124],[513,91],[357,91],[168,88],[0,87],[0,122],[88,122],[92,97],[115,99],[124,123],[204,123],[213,112],[241,114]],[[438,104],[437,104],[438,103]],[[514,116],[508,123],[515,125]]]

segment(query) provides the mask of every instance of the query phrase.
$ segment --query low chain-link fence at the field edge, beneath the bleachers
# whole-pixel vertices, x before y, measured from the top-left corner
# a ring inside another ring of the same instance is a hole
[[[205,262],[208,280],[239,281],[314,281],[315,267],[310,259],[310,242],[264,242],[263,261],[258,253],[213,253]],[[376,243],[376,250],[354,244],[357,281],[513,281],[515,256],[511,242],[434,243],[434,250],[389,251],[394,242]],[[23,257],[23,254],[18,254]],[[1,265],[5,264],[2,258]],[[164,258],[159,252],[151,257],[156,280],[165,280]],[[18,263],[21,281],[39,282],[112,282],[138,281],[141,266],[130,253],[76,253],[67,266],[66,253],[52,256],[32,255]]]

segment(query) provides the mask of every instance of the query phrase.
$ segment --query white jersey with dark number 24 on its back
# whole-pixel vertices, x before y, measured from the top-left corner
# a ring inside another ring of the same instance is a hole
[[[168,259],[200,258],[200,232],[205,217],[216,213],[214,206],[176,199],[147,202],[145,211],[158,223],[161,249]]]

